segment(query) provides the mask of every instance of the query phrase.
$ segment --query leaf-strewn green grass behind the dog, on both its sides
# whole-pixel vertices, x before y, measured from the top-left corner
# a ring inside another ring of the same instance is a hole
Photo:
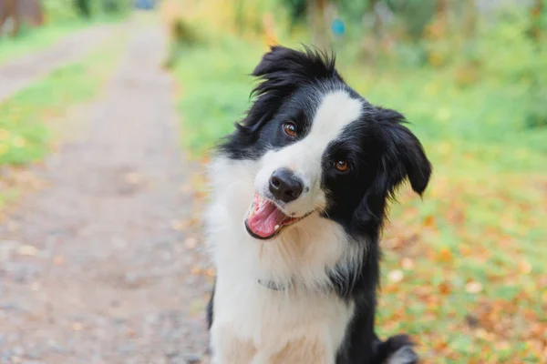
[[[250,105],[265,47],[228,37],[187,48],[183,146],[201,157]],[[527,128],[526,86],[449,68],[411,71],[339,58],[366,98],[403,111],[435,167],[423,200],[403,189],[382,242],[382,335],[407,331],[431,363],[547,357],[547,128]]]

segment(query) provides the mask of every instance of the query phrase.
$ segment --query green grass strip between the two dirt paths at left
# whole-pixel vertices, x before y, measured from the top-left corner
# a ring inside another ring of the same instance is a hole
[[[58,68],[0,103],[0,167],[37,162],[52,150],[58,120],[71,107],[98,95],[116,65],[119,43],[114,37],[84,59]],[[0,207],[13,197],[14,190],[3,186]]]

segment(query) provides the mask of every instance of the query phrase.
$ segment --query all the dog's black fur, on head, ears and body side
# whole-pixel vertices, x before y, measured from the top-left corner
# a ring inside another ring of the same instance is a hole
[[[367,245],[360,271],[348,272],[347,277],[332,275],[338,295],[356,307],[336,363],[384,363],[411,343],[404,335],[381,341],[375,334],[378,242],[388,200],[394,197],[397,187],[407,179],[420,195],[427,187],[431,174],[428,158],[418,138],[404,125],[404,116],[369,104],[347,86],[335,70],[333,56],[307,48],[298,52],[274,46],[263,56],[253,76],[261,80],[253,90],[255,102],[220,147],[222,154],[234,159],[257,159],[269,148],[294,143],[281,131],[286,120],[293,121],[299,137],[304,137],[313,120],[317,95],[343,89],[363,102],[362,118],[346,126],[325,150],[322,185],[329,191],[329,203],[324,217],[343,226],[355,244]],[[332,168],[339,157],[349,162],[349,173],[337,173]],[[212,306],[209,313],[212,315]]]

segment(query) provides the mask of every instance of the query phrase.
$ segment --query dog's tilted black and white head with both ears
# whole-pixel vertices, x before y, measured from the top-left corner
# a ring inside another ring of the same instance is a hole
[[[259,166],[245,219],[254,238],[310,215],[377,234],[401,182],[418,194],[427,187],[431,166],[404,116],[359,96],[333,57],[275,46],[253,76],[256,101],[222,151]]]

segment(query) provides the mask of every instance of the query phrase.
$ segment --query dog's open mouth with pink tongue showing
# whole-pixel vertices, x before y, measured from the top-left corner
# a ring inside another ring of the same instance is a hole
[[[253,205],[245,218],[245,227],[253,238],[267,240],[274,238],[284,227],[293,225],[306,216],[286,216],[274,202],[255,193]]]

